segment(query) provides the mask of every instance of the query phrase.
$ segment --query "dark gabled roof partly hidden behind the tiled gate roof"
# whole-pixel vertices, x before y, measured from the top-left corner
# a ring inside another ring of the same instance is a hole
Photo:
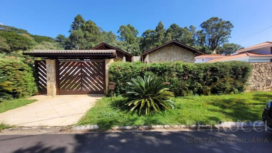
[[[109,44],[107,44],[105,42],[102,42],[101,44],[90,48],[90,50],[105,50],[105,49],[107,49],[107,50],[109,50],[109,49],[110,50],[116,50],[117,56],[119,55],[118,57],[121,57],[120,55],[122,55],[122,57],[123,57],[123,55],[125,55],[126,60],[128,60],[130,62],[132,61],[133,55],[131,55],[131,54],[129,54],[129,53],[123,51],[123,50],[120,50],[119,48],[116,48],[116,47],[114,47],[112,45],[109,45]]]

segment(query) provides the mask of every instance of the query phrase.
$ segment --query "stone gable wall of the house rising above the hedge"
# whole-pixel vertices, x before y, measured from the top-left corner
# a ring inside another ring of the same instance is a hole
[[[166,45],[149,54],[149,62],[183,61],[194,63],[194,53],[177,45]]]

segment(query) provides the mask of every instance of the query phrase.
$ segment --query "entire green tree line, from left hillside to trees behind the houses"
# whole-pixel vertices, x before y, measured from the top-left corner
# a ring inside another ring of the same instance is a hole
[[[141,55],[166,42],[177,40],[205,53],[212,54],[220,50],[220,54],[232,54],[241,48],[240,45],[227,43],[233,25],[218,17],[212,17],[200,25],[180,27],[173,23],[168,28],[162,21],[153,29],[139,31],[131,24],[121,25],[116,31],[104,31],[95,22],[84,20],[78,14],[74,17],[69,29],[69,36],[59,34],[56,38],[32,35],[28,31],[11,26],[0,25],[0,53],[11,53],[17,50],[33,50],[42,48],[88,50],[95,45],[106,42],[133,55]],[[45,43],[49,42],[49,43]],[[219,47],[220,46],[220,47]]]

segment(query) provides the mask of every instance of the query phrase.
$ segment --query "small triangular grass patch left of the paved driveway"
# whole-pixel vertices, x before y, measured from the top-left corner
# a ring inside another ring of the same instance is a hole
[[[33,102],[36,102],[36,99],[12,99],[0,102],[0,113],[5,112],[14,108],[18,108]]]

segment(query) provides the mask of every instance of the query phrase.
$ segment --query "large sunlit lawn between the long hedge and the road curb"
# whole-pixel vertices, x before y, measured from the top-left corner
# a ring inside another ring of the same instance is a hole
[[[176,97],[174,110],[160,113],[150,112],[149,116],[129,112],[121,96],[102,98],[91,108],[77,125],[98,125],[102,130],[114,126],[139,125],[189,125],[217,124],[219,121],[257,121],[272,92],[250,92],[231,95]]]

